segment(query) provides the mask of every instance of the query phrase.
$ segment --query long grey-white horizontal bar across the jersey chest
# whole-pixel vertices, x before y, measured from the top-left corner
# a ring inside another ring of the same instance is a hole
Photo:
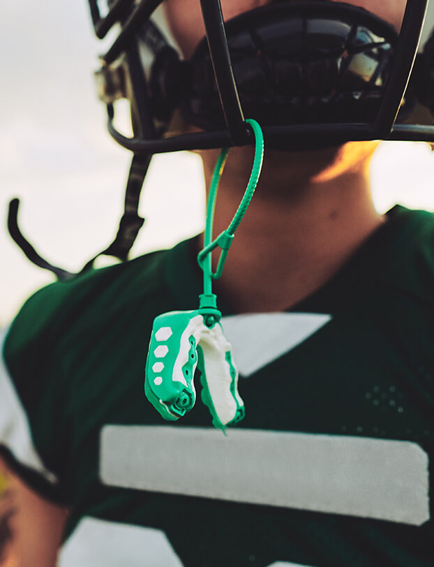
[[[420,525],[428,455],[417,443],[260,429],[107,425],[107,485]]]

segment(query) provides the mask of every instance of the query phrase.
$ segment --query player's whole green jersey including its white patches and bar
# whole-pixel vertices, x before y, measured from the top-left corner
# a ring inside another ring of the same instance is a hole
[[[433,566],[433,290],[434,217],[394,207],[292,309],[219,300],[246,407],[226,436],[200,396],[174,423],[143,393],[154,318],[197,308],[193,241],[38,291],[0,443],[71,508],[60,565]]]

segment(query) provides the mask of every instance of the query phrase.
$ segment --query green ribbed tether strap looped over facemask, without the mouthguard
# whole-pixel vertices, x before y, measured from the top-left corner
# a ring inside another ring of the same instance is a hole
[[[214,168],[214,173],[211,179],[211,187],[209,189],[209,198],[207,205],[207,222],[205,225],[204,234],[204,248],[200,251],[197,256],[197,262],[204,272],[204,294],[200,297],[200,308],[215,308],[215,296],[212,293],[212,280],[218,279],[225,265],[227,258],[227,253],[229,252],[232,241],[234,240],[234,233],[237,230],[239,223],[246,214],[248,205],[252,200],[253,193],[257,186],[257,182],[260,177],[260,172],[262,169],[262,161],[264,158],[264,136],[262,135],[262,130],[257,121],[252,119],[246,119],[246,122],[250,125],[255,135],[255,157],[253,159],[252,172],[250,174],[250,179],[244,192],[244,196],[239,204],[237,212],[234,214],[230,225],[223,233],[220,233],[216,239],[212,240],[213,224],[214,224],[214,211],[216,209],[216,198],[218,184],[220,183],[220,178],[223,173],[223,168],[225,167],[227,154],[229,153],[229,148],[223,148],[218,156],[216,167]],[[212,271],[211,264],[211,253],[214,249],[220,247],[220,257],[218,258],[218,264],[216,272]]]

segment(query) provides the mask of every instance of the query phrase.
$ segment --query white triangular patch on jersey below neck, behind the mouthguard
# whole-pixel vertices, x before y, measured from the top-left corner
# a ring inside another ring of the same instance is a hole
[[[223,317],[241,376],[250,376],[295,348],[331,321],[315,313],[254,313]]]

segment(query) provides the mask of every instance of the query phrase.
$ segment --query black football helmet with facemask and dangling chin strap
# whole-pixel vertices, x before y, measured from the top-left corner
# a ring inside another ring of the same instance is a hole
[[[89,0],[96,36],[114,36],[96,72],[107,128],[133,152],[124,215],[102,253],[128,257],[143,223],[138,203],[153,154],[251,145],[246,119],[256,119],[266,147],[276,149],[434,142],[434,4],[401,1],[397,24],[382,19],[381,2],[373,13],[354,6],[359,0],[271,0],[226,22],[220,0],[200,0],[206,36],[186,59],[163,0]],[[120,98],[130,103],[130,137],[114,126]],[[69,277],[22,236],[17,207],[11,202],[14,240],[34,263]]]

